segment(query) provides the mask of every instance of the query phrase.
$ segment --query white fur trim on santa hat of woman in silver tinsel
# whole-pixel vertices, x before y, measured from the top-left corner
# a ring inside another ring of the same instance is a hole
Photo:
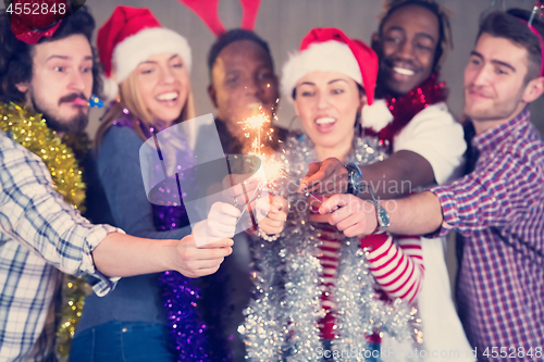
[[[293,89],[297,82],[310,72],[339,72],[362,85],[359,63],[348,45],[329,40],[316,42],[302,51],[290,54],[282,72],[282,91],[293,102]]]

